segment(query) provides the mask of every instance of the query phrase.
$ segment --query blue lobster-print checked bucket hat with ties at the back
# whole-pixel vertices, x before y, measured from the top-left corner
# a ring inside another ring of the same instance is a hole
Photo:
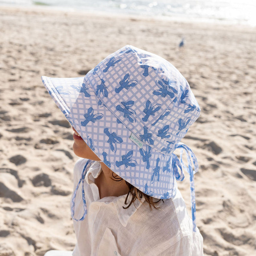
[[[183,180],[183,169],[187,170],[195,229],[193,174],[198,164],[180,140],[200,108],[188,82],[171,63],[126,45],[84,77],[42,76],[42,80],[101,161],[143,193],[161,199],[175,196],[176,180]],[[173,153],[177,148],[180,159]],[[188,167],[182,161],[183,150]]]

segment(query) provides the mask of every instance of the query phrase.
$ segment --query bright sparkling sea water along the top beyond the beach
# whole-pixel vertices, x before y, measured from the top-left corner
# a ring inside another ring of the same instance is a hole
[[[0,0],[1,5],[154,16],[256,26],[256,0]]]

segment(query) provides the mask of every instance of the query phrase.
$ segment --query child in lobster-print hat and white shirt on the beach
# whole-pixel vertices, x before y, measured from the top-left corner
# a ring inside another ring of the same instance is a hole
[[[200,108],[180,72],[126,45],[85,77],[42,80],[73,126],[73,150],[81,157],[71,200],[73,255],[203,255],[195,215],[198,164],[180,143]],[[193,221],[177,188],[184,169]]]

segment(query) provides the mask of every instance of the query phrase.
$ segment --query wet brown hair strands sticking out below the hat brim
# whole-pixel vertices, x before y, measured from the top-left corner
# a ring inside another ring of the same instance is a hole
[[[119,177],[117,174],[115,174],[114,172],[112,172],[112,180],[115,181],[122,181],[123,179],[121,177]],[[161,199],[154,201],[154,197],[152,196],[148,196],[145,193],[141,192],[138,188],[135,188],[134,186],[132,186],[132,184],[130,184],[129,182],[127,182],[125,180],[126,185],[128,186],[129,192],[125,198],[124,204],[127,205],[126,207],[123,206],[124,209],[128,209],[132,203],[135,202],[136,199],[138,199],[141,202],[141,199],[144,197],[145,201],[148,203],[149,205],[149,209],[150,211],[152,210],[152,207],[155,209],[160,209],[160,207],[158,206],[158,203],[160,202]],[[130,202],[128,202],[130,199]],[[164,202],[164,200],[162,200]]]

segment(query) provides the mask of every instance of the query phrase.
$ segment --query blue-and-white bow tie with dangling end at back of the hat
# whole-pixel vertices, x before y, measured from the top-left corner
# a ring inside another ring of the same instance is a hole
[[[180,160],[179,158],[173,154],[173,164],[174,164],[174,175],[176,180],[182,181],[184,179],[184,172],[183,168],[188,172],[189,174],[189,181],[190,181],[190,199],[191,199],[191,213],[192,213],[192,221],[193,221],[193,231],[196,232],[196,198],[195,198],[195,182],[194,182],[194,174],[198,171],[198,162],[196,159],[195,154],[193,151],[183,143],[177,143],[175,146],[176,148],[180,148]],[[184,164],[182,159],[183,150],[185,150],[187,155],[187,161],[188,161],[188,167]],[[194,164],[194,171],[193,171],[193,165]],[[180,168],[180,172],[178,171],[178,167]]]

